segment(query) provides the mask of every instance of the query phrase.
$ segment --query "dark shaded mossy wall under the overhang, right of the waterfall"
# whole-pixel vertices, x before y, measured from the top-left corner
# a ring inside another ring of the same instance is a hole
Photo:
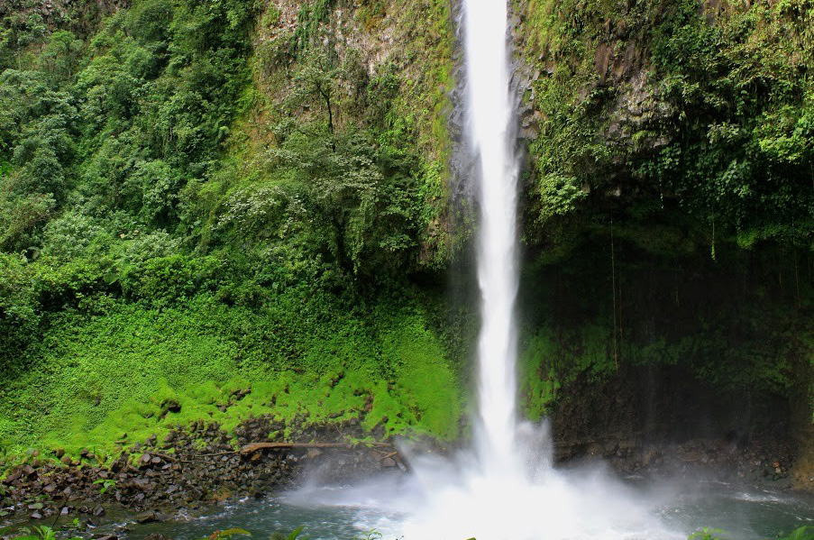
[[[611,255],[609,241],[600,236],[572,259],[524,274],[530,416],[568,382],[626,366],[680,367],[722,395],[798,398],[812,353],[805,254],[731,250],[717,261],[706,253],[664,260],[618,239]]]

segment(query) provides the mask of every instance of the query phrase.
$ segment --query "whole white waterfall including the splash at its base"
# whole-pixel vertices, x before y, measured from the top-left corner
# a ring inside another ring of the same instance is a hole
[[[553,469],[544,428],[517,419],[517,174],[509,90],[508,0],[463,0],[468,129],[480,186],[479,408],[475,447],[455,459],[414,456],[386,481],[306,499],[361,508],[361,528],[389,540],[683,540],[601,468]],[[393,517],[371,515],[392,512]],[[367,516],[367,517],[365,517]]]

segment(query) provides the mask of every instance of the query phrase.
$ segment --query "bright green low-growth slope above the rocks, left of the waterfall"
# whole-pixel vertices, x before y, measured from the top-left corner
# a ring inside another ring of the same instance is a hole
[[[265,414],[457,435],[458,384],[417,302],[380,301],[365,314],[297,308],[300,299],[281,295],[255,311],[196,297],[161,311],[115,302],[101,315],[64,313],[30,352],[32,369],[6,383],[0,441],[13,453],[114,453],[117,441],[200,418],[230,428]],[[283,336],[296,349],[285,357],[275,343]],[[179,412],[168,412],[171,402]]]

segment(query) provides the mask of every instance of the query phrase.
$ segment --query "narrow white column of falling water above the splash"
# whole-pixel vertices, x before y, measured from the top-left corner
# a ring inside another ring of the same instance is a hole
[[[509,93],[507,5],[465,0],[468,130],[478,156],[479,433],[482,466],[505,471],[514,459],[517,156]]]

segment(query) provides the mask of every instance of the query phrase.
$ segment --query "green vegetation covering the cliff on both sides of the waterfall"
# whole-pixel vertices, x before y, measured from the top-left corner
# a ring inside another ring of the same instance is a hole
[[[453,7],[0,4],[0,454],[265,413],[457,437]],[[514,11],[527,414],[620,362],[809,406],[814,6]]]

